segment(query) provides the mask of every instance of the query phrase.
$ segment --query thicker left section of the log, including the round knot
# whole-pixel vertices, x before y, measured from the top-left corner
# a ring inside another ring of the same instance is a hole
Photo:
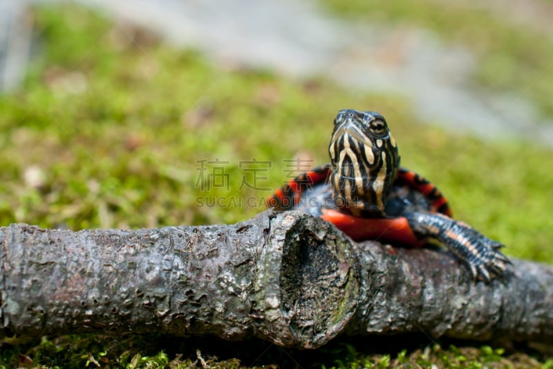
[[[318,347],[355,312],[348,242],[321,219],[270,211],[135,231],[12,224],[0,228],[0,336],[158,332]]]

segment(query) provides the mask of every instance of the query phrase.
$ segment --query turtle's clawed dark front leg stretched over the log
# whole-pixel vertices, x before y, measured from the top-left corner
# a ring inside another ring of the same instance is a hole
[[[422,211],[403,216],[417,237],[432,237],[455,253],[467,264],[474,280],[489,283],[501,276],[510,263],[500,251],[503,244],[490,240],[468,224],[446,215]]]

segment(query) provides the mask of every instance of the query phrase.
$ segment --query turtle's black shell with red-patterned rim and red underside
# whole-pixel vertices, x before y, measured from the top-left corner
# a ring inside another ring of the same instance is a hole
[[[339,208],[332,199],[330,174],[332,166],[322,165],[300,174],[277,190],[268,206],[277,211],[300,210],[322,217],[334,224],[355,241],[379,240],[420,246],[407,219],[406,212],[427,211],[451,217],[447,200],[440,190],[424,177],[400,168],[388,192],[383,217],[355,216]]]

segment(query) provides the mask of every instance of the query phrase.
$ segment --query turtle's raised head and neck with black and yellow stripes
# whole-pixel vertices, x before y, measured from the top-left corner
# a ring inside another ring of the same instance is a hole
[[[357,216],[384,216],[386,196],[400,166],[386,119],[374,111],[339,111],[328,152],[335,204]]]

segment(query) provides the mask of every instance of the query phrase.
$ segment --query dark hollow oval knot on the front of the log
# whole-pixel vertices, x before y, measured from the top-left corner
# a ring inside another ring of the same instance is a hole
[[[357,279],[352,257],[344,248],[344,237],[336,237],[326,222],[313,226],[297,224],[288,232],[283,250],[281,309],[290,318],[294,334],[328,337],[353,314]]]

